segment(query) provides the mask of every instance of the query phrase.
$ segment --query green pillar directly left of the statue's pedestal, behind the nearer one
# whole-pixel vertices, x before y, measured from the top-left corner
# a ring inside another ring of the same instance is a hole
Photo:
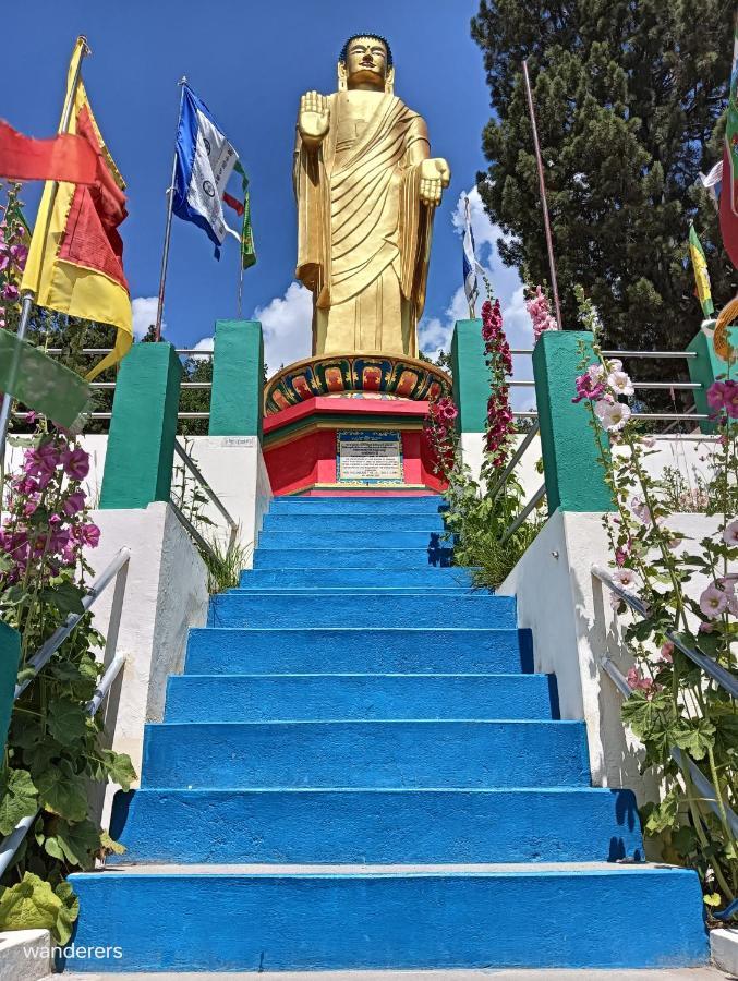
[[[210,436],[258,436],[264,421],[264,339],[258,320],[217,320]]]

